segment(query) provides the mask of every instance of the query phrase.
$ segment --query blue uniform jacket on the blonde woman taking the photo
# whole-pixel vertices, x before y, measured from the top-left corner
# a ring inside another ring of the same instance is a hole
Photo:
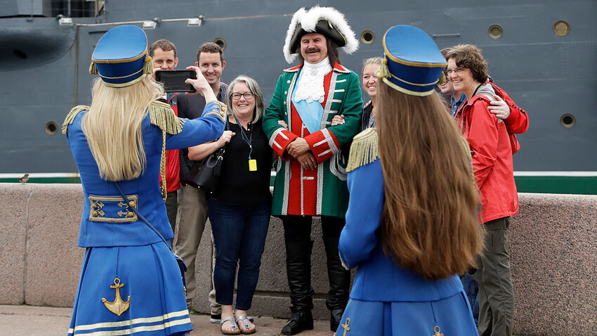
[[[179,149],[196,146],[221,136],[224,123],[221,117],[212,113],[219,106],[206,105],[204,117],[183,119],[181,133],[166,134],[166,149]],[[122,202],[112,181],[100,178],[96,160],[91,155],[87,139],[81,130],[81,118],[87,111],[80,112],[68,126],[67,139],[77,164],[85,205],[79,232],[80,247],[136,246],[157,243],[162,239],[128,209],[135,206],[166,240],[174,234],[166,216],[166,206],[159,188],[159,164],[162,158],[162,129],[151,124],[147,115],[143,120],[143,146],[147,162],[145,171],[136,179],[120,181],[119,185],[127,198],[133,202]],[[114,134],[113,146],[122,140]],[[129,214],[129,212],[131,214]]]

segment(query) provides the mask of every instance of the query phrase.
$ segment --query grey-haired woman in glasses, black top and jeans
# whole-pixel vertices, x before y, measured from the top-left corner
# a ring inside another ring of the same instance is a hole
[[[251,334],[255,325],[247,318],[247,310],[257,286],[270,223],[272,149],[261,128],[264,104],[257,82],[239,76],[230,83],[226,96],[226,131],[217,141],[189,148],[189,157],[202,160],[227,144],[218,189],[208,196],[209,221],[216,243],[216,302],[222,306],[224,335]]]

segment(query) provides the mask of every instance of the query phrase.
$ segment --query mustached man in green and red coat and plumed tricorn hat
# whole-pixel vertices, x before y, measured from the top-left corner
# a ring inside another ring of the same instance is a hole
[[[338,240],[348,207],[346,162],[340,153],[358,131],[362,113],[359,77],[340,65],[338,49],[358,48],[355,33],[334,8],[299,9],[291,20],[284,57],[301,64],[284,70],[263,130],[280,156],[275,162],[272,214],[284,224],[286,267],[292,315],[282,335],[313,328],[311,287],[311,219],[320,216],[327,254],[330,328],[335,331],[348,302],[350,272],[343,269]],[[345,122],[331,126],[335,115]],[[283,120],[287,127],[279,120]]]

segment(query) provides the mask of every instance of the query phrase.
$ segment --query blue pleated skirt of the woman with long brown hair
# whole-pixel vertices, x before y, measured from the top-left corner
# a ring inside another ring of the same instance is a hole
[[[345,333],[346,332],[346,333]],[[350,299],[338,336],[479,335],[464,291],[431,302],[378,302]]]

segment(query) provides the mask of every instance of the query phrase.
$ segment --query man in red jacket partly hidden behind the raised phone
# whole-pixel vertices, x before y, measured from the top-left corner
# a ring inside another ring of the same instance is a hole
[[[152,58],[153,73],[158,70],[174,70],[178,65],[178,57],[176,57],[176,46],[171,41],[166,39],[159,39],[152,43],[149,50],[149,56]],[[169,103],[174,114],[178,115],[176,106],[176,92],[166,93],[162,97],[166,103]],[[180,160],[178,150],[166,150],[166,213],[168,214],[168,221],[172,226],[172,231],[176,226],[176,214],[178,212],[178,189],[181,188],[181,172]],[[159,181],[160,185],[162,181]],[[170,242],[172,244],[172,242]]]

